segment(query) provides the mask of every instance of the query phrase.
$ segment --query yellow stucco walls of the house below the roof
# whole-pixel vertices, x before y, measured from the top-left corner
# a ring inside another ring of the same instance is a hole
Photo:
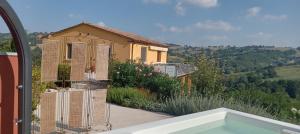
[[[149,44],[131,43],[132,41],[129,38],[88,25],[80,25],[63,32],[58,32],[53,36],[43,39],[43,42],[46,40],[59,40],[61,42],[60,53],[62,61],[65,60],[66,45],[68,43],[84,42],[91,46],[91,51],[94,45],[110,45],[113,58],[121,62],[131,59],[139,61],[141,58],[141,48],[147,47],[147,61],[145,64],[157,63],[157,51],[150,50]],[[89,53],[92,53],[91,51]],[[166,63],[166,61],[167,52],[162,52],[160,63]]]

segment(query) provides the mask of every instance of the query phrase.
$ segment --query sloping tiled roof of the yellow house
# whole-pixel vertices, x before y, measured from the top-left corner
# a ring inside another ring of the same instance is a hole
[[[50,33],[49,35],[55,35],[55,34],[58,34],[58,33],[62,33],[62,32],[65,32],[67,30],[70,30],[70,29],[73,29],[75,27],[79,27],[79,26],[82,26],[82,25],[87,25],[87,26],[90,26],[90,27],[93,27],[93,28],[97,28],[99,30],[104,30],[104,31],[107,31],[107,32],[110,32],[110,33],[113,33],[113,34],[116,34],[116,35],[119,35],[119,36],[122,36],[124,38],[128,38],[128,39],[132,40],[135,43],[145,43],[145,44],[151,44],[151,45],[159,46],[159,47],[169,47],[168,45],[163,44],[163,43],[161,43],[159,41],[151,40],[151,39],[145,38],[145,37],[137,35],[137,34],[133,34],[133,33],[129,33],[129,32],[124,32],[124,31],[120,31],[120,30],[117,30],[117,29],[114,29],[114,28],[99,26],[99,25],[95,25],[95,24],[91,24],[91,23],[86,23],[86,22],[82,22],[80,24],[71,26],[69,28],[66,28],[66,29],[63,29],[63,30],[60,30],[60,31],[57,31],[57,32]],[[44,36],[43,38],[46,38],[46,37],[48,37],[48,35]]]

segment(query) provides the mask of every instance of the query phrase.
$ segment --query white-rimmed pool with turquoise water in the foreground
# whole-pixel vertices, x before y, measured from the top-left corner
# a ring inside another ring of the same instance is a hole
[[[219,108],[103,134],[300,134],[300,126]]]

